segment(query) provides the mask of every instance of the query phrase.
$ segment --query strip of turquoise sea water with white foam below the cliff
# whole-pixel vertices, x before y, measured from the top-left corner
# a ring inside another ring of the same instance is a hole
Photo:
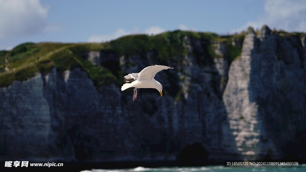
[[[144,168],[137,167],[132,169],[91,169],[81,172],[305,172],[306,164],[297,167],[226,167],[226,166],[203,166],[203,167],[159,167]]]

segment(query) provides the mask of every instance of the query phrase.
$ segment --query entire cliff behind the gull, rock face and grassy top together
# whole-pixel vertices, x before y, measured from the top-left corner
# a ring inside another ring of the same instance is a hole
[[[305,162],[305,37],[263,26],[0,51],[1,160]],[[155,64],[174,67],[155,76],[162,97],[121,92],[126,74]]]

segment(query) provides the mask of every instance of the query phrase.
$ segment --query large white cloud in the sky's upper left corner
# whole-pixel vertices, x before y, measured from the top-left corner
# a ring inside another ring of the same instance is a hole
[[[39,0],[0,0],[0,39],[43,31],[47,14]]]

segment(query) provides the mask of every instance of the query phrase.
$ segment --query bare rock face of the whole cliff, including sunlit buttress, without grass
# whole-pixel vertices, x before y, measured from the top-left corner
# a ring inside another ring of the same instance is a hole
[[[194,143],[220,161],[256,160],[268,152],[273,159],[305,157],[305,37],[281,37],[266,26],[256,35],[249,28],[240,57],[227,60],[219,43],[210,65],[197,60],[207,43],[183,42],[187,51],[170,63],[174,69],[155,77],[167,92],[162,97],[140,89],[133,102],[132,90],[95,87],[81,69],[54,68],[0,88],[1,158],[169,161]],[[154,53],[86,56],[131,73],[151,65]],[[289,146],[295,146],[291,153]]]

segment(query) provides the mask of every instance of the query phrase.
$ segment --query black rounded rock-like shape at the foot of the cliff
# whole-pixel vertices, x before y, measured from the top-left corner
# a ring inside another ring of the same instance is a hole
[[[204,166],[207,165],[208,155],[203,146],[196,142],[183,148],[176,159],[180,166]]]

